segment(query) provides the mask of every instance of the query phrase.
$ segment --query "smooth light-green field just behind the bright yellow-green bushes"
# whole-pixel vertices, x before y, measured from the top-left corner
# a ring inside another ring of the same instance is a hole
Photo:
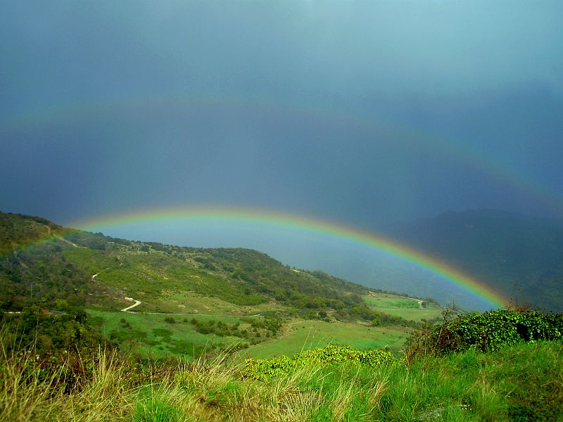
[[[299,352],[329,344],[350,345],[357,349],[388,347],[398,351],[407,333],[395,328],[370,327],[364,324],[343,324],[324,321],[291,321],[279,338],[243,350],[243,357],[267,358]]]

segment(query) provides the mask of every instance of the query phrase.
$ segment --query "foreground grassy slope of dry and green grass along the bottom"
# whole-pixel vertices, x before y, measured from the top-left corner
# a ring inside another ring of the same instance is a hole
[[[101,354],[81,387],[1,357],[3,421],[561,421],[563,344],[425,358],[405,366],[308,367],[269,382],[236,366],[192,364],[139,373]],[[84,369],[87,363],[84,362]]]

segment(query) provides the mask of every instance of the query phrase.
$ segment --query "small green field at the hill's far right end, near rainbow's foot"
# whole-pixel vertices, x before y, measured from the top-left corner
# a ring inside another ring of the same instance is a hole
[[[413,321],[431,320],[441,315],[442,307],[436,303],[426,302],[421,307],[417,300],[403,298],[386,293],[372,293],[362,297],[370,309],[384,314],[401,316]]]

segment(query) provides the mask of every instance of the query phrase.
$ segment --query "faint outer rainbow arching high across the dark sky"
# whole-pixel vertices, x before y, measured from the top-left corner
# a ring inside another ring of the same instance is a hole
[[[441,139],[436,135],[424,134],[417,130],[404,127],[403,124],[393,122],[389,117],[375,121],[372,115],[350,113],[348,110],[331,108],[324,103],[301,103],[273,101],[272,98],[255,97],[241,98],[237,96],[216,96],[213,94],[173,93],[163,96],[122,98],[106,101],[89,101],[58,104],[45,109],[26,110],[23,113],[13,113],[0,119],[0,136],[2,132],[10,134],[12,131],[27,131],[30,127],[42,127],[66,122],[80,122],[88,119],[108,119],[119,114],[136,115],[139,113],[154,113],[156,110],[191,110],[203,108],[224,108],[225,110],[253,110],[279,116],[301,116],[305,120],[319,120],[327,124],[342,127],[363,128],[375,139],[386,139],[402,143],[412,148],[420,148],[426,153],[436,154],[444,160],[451,160],[460,166],[467,167],[475,174],[485,175],[490,181],[506,186],[511,190],[524,194],[529,200],[541,203],[550,210],[561,214],[563,212],[563,196],[559,189],[545,186],[545,184],[531,174],[522,172],[519,168],[500,162],[490,153],[476,151],[452,139]]]

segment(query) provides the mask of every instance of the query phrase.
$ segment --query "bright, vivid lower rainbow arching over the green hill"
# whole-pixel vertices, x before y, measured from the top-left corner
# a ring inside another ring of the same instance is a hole
[[[74,222],[72,226],[89,231],[110,229],[112,226],[124,224],[173,222],[182,219],[205,222],[228,222],[232,224],[253,223],[263,224],[281,229],[298,229],[309,233],[322,234],[333,238],[349,241],[358,245],[372,248],[378,252],[397,257],[410,264],[429,271],[431,274],[445,279],[450,284],[472,293],[484,300],[491,307],[502,308],[507,300],[488,286],[463,274],[444,262],[434,257],[425,255],[419,250],[393,241],[378,234],[362,231],[351,226],[345,226],[324,219],[291,215],[271,210],[254,210],[234,207],[167,207],[150,210],[125,212],[118,215],[108,215]]]

